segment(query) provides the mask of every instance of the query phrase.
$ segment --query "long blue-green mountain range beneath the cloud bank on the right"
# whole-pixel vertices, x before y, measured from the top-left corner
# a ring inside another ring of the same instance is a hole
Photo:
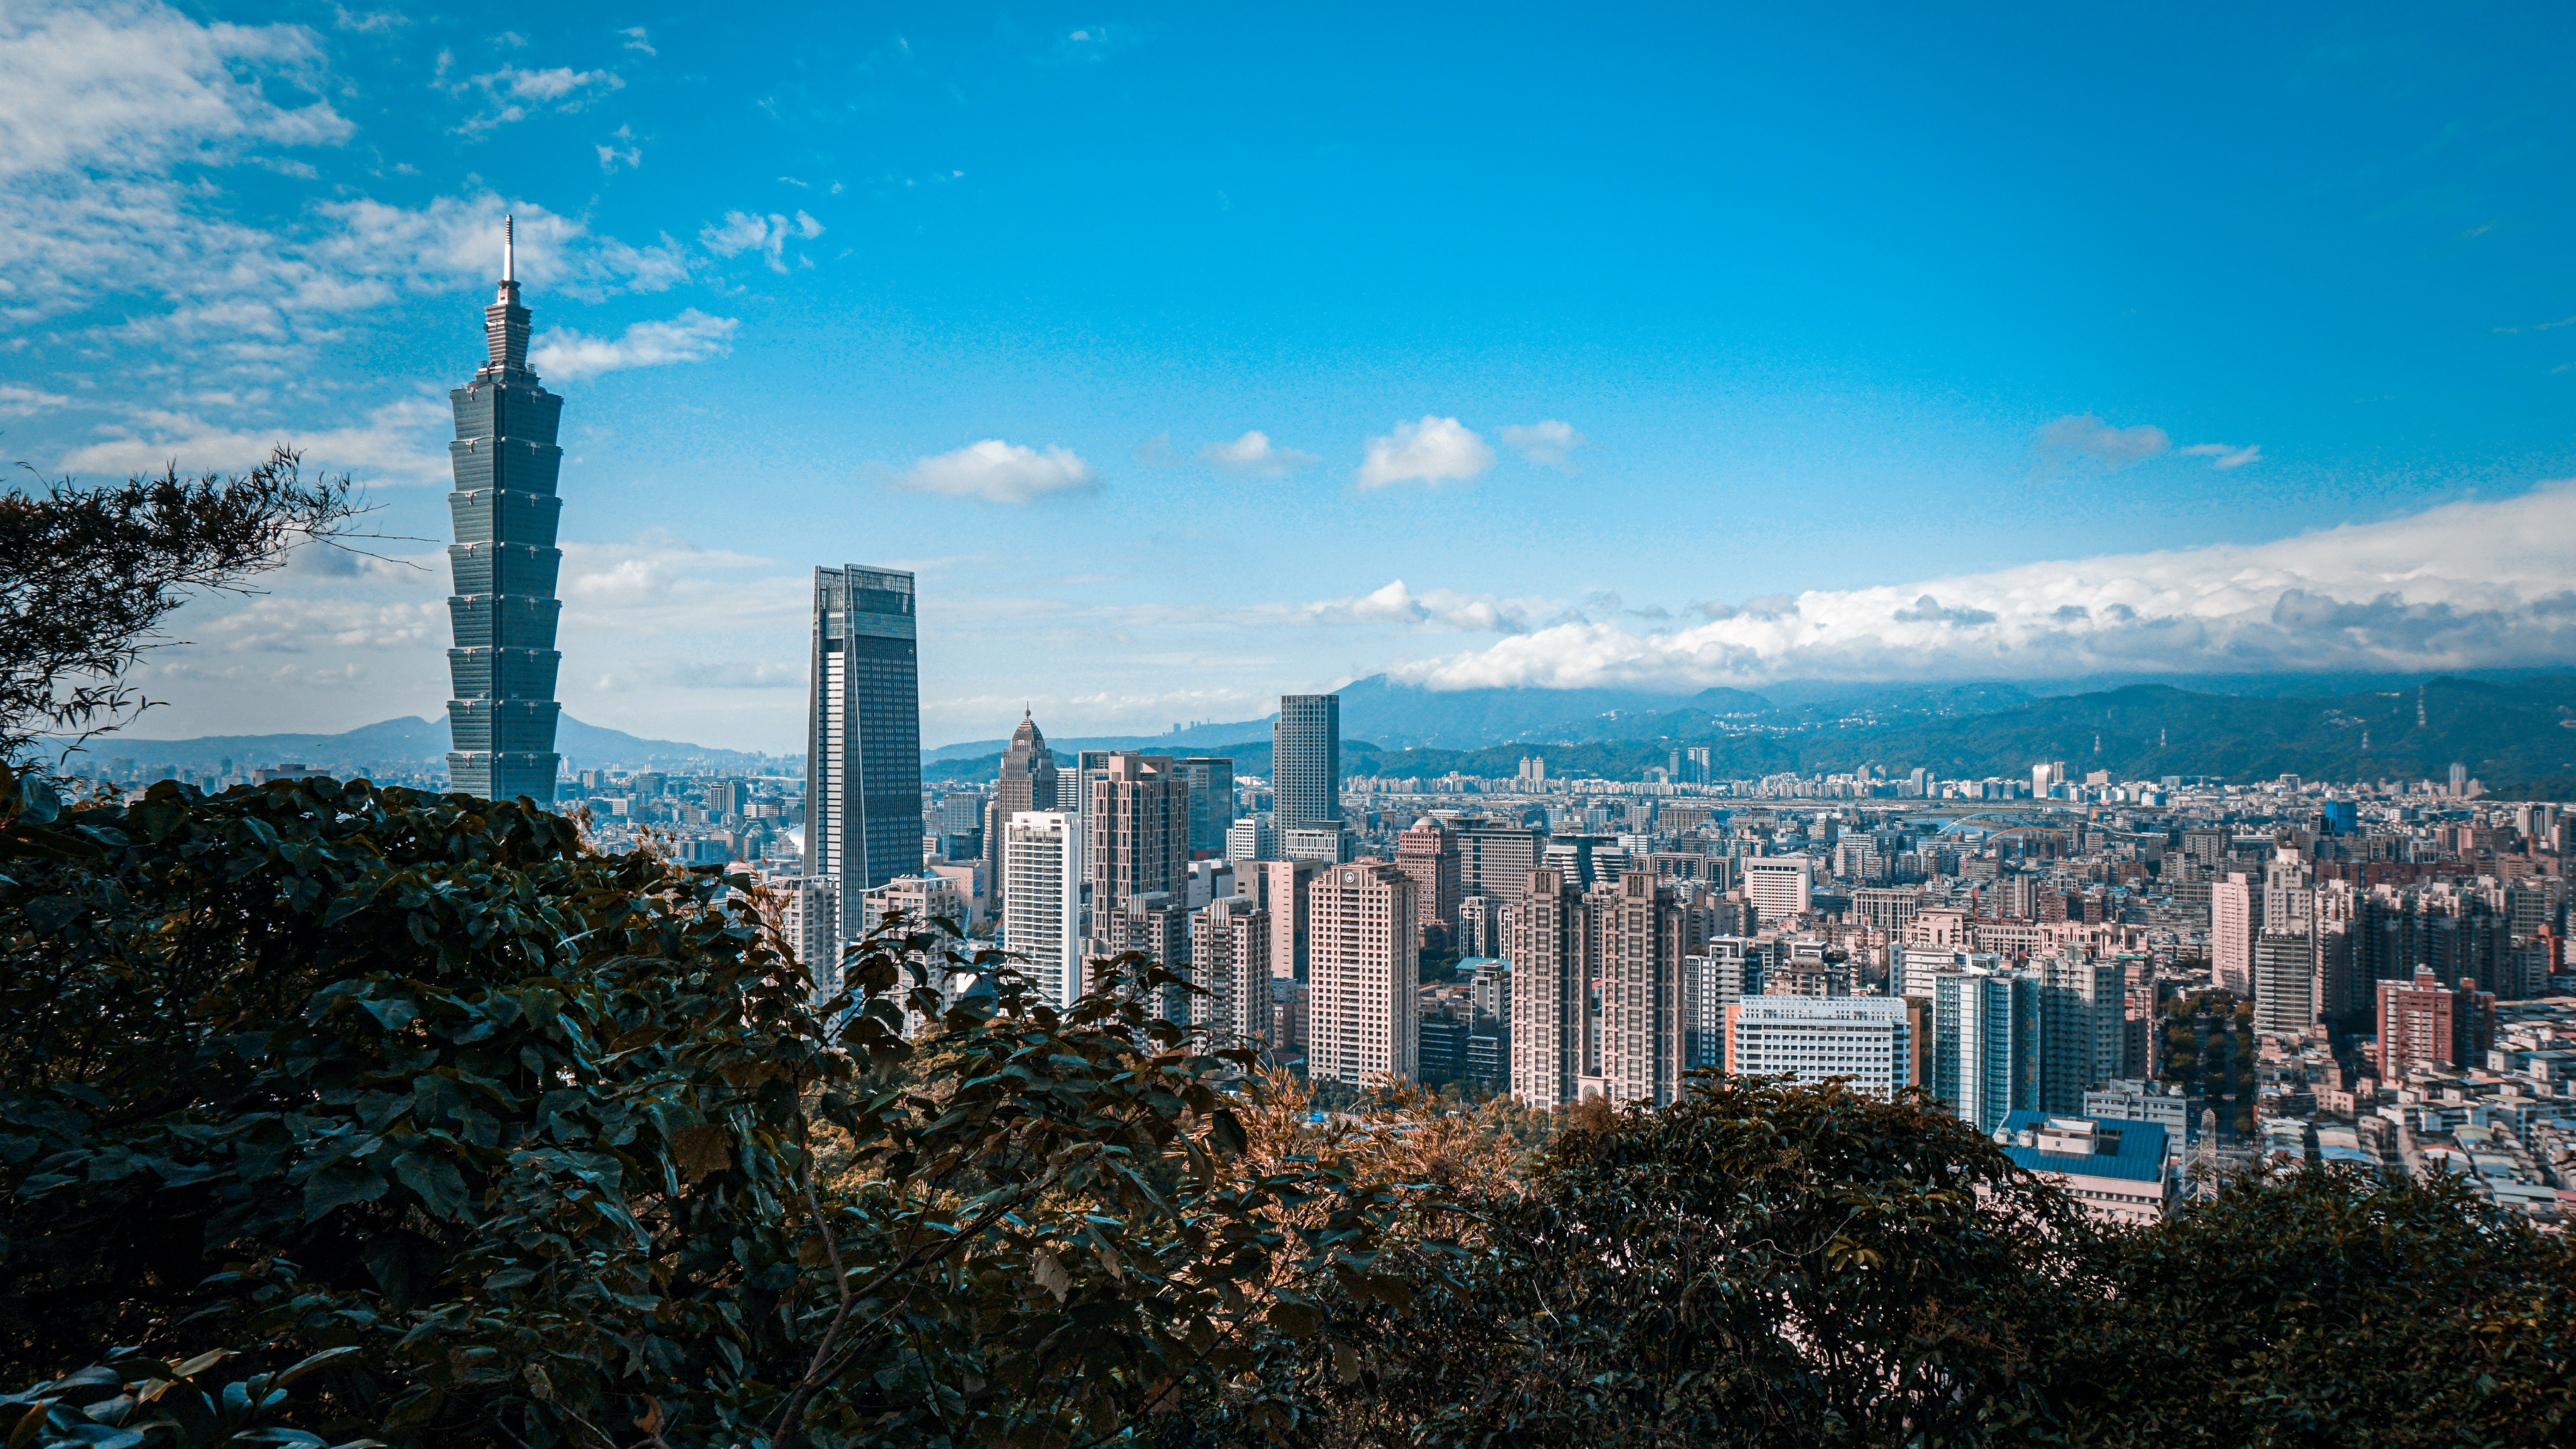
[[[2334,696],[2195,694],[2138,683],[2017,704],[1984,686],[1880,688],[1875,696],[1757,717],[1682,704],[1556,719],[1522,740],[1471,750],[1365,740],[1350,727],[1347,701],[1345,694],[1345,776],[1510,776],[1520,755],[1540,753],[1556,776],[1641,779],[1649,766],[1667,766],[1672,750],[1708,745],[1721,779],[1837,773],[1868,763],[1888,773],[1924,766],[1942,779],[1984,779],[2027,776],[2040,761],[2066,761],[2079,776],[2099,768],[2120,779],[2445,779],[2460,761],[2496,792],[2576,797],[2576,673],[2530,673],[2501,683],[2434,678],[2414,688]],[[1229,755],[1239,773],[1270,771],[1267,730],[1193,753]],[[994,750],[922,773],[992,779],[997,768]]]

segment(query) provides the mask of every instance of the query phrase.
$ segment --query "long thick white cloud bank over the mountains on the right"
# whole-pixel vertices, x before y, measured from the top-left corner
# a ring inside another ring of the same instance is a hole
[[[2576,480],[2272,544],[1808,590],[1705,624],[1564,621],[1399,670],[1435,688],[2455,670],[2576,660]]]

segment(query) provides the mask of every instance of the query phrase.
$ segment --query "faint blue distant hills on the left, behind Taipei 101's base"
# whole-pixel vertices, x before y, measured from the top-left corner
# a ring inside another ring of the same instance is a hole
[[[701,768],[701,771],[757,771],[796,763],[799,755],[757,755],[747,750],[719,750],[683,740],[644,740],[623,730],[582,724],[564,714],[554,730],[554,748],[577,768]],[[366,766],[422,766],[446,768],[446,719],[381,719],[340,735],[201,735],[196,740],[139,740],[134,735],[100,735],[90,740],[88,761],[129,758],[144,768],[214,768],[232,761],[234,768],[301,763],[312,768],[345,771]]]

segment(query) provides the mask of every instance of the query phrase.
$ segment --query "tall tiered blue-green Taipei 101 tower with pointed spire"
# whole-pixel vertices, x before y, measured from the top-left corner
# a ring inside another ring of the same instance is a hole
[[[554,547],[554,518],[564,500],[554,474],[564,449],[554,423],[564,400],[528,371],[528,309],[518,304],[518,240],[502,217],[500,297],[484,307],[484,345],[492,358],[474,382],[451,389],[456,441],[456,541],[448,565],[456,596],[448,614],[456,647],[448,650],[448,755],[451,789],[484,799],[528,797],[554,804],[554,575],[564,552]]]

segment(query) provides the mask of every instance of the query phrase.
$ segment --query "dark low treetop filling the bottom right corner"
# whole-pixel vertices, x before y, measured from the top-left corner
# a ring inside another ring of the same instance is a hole
[[[2115,1292],[2045,1338],[2061,1444],[2576,1434],[2576,1250],[2447,1176],[2244,1173],[2094,1253]]]

